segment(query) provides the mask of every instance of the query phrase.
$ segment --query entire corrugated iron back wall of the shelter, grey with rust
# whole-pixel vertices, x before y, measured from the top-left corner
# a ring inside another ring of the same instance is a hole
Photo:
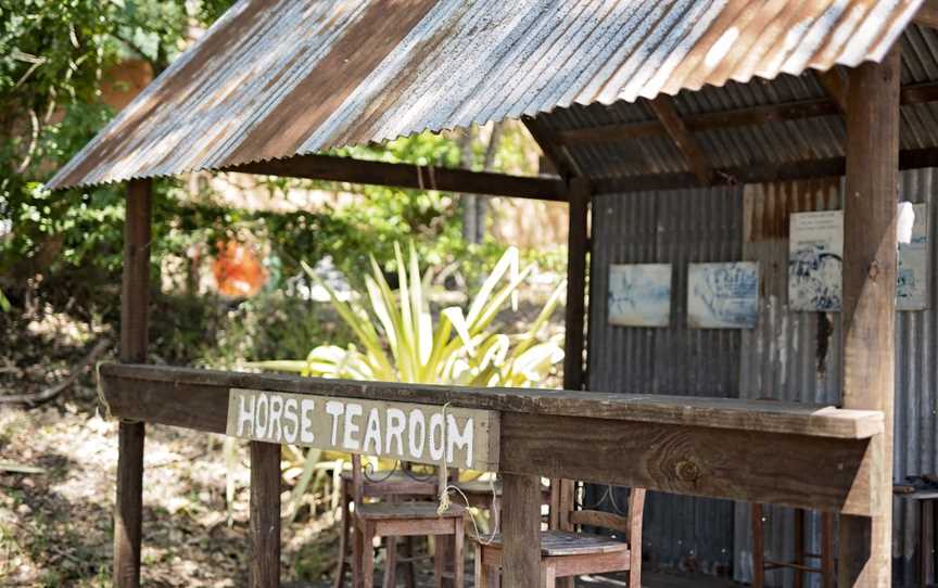
[[[938,171],[903,171],[900,178],[901,200],[928,204],[929,267],[934,267],[938,259],[934,237]],[[840,316],[789,311],[787,266],[790,213],[840,208],[840,194],[841,183],[834,180],[597,196],[591,270],[591,389],[838,402]],[[760,261],[759,327],[751,331],[688,330],[687,264],[734,259]],[[669,329],[608,324],[608,268],[623,263],[674,265]],[[899,312],[896,324],[897,481],[938,471],[938,289],[933,276],[928,279],[929,308]],[[591,498],[600,495],[598,489],[591,491]],[[916,581],[918,521],[912,507],[896,500],[897,586]],[[769,508],[766,512],[769,554],[789,558],[790,511]],[[651,493],[645,549],[652,564],[706,573],[732,567],[735,579],[748,581],[749,525],[748,504]],[[819,521],[809,517],[808,525],[808,548],[816,552]],[[793,578],[775,572],[766,579],[770,586],[790,586]]]

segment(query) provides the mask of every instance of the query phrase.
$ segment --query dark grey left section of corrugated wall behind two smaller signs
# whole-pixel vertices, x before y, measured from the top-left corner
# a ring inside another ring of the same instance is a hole
[[[597,196],[593,207],[590,386],[597,391],[736,397],[739,331],[686,328],[687,264],[738,259],[740,189]],[[671,328],[624,329],[606,315],[609,265],[673,265]],[[625,458],[628,459],[628,457]],[[587,502],[603,495],[591,488]],[[625,504],[625,493],[617,493]],[[733,502],[651,493],[645,553],[654,564],[727,574]]]

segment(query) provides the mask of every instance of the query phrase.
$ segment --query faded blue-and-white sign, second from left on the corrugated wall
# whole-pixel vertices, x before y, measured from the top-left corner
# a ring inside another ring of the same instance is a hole
[[[759,264],[690,264],[687,322],[692,329],[752,329],[759,322]]]

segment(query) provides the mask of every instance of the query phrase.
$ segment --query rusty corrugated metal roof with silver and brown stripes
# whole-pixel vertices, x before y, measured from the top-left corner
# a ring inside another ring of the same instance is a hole
[[[50,182],[878,61],[922,0],[241,0]]]

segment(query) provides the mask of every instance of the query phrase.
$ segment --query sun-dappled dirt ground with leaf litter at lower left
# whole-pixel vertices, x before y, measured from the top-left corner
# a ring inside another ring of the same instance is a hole
[[[0,410],[0,586],[110,586],[117,423],[71,402]],[[248,455],[239,448],[229,525],[221,444],[217,435],[149,427],[143,585],[246,585]],[[17,466],[28,471],[9,471]],[[327,512],[284,528],[284,580],[331,570],[332,523]]]

